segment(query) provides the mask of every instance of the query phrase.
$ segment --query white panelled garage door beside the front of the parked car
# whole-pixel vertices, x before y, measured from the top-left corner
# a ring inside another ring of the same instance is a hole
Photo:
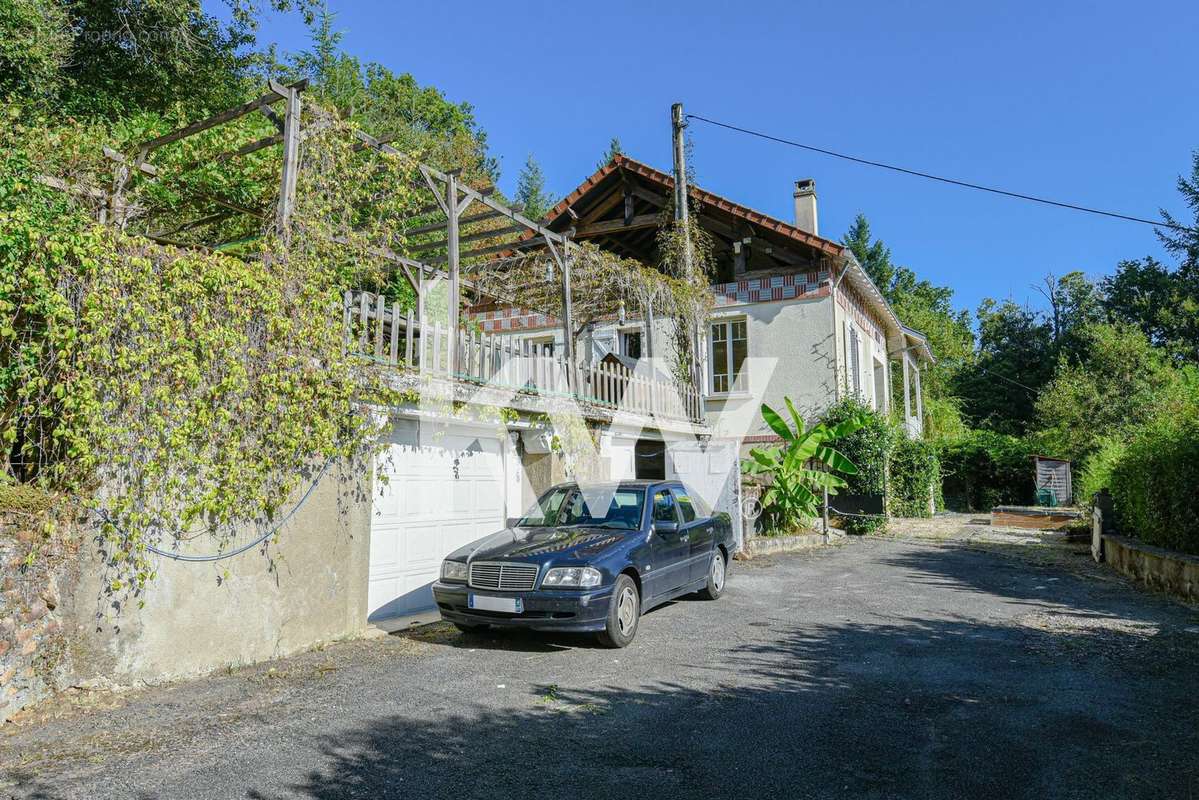
[[[494,433],[450,427],[426,439],[416,423],[400,421],[378,461],[388,480],[375,486],[369,619],[430,608],[441,559],[504,528],[504,458]]]

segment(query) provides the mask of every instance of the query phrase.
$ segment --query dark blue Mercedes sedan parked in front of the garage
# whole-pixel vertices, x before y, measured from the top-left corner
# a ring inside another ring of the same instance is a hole
[[[505,530],[451,553],[433,596],[462,631],[592,632],[623,648],[653,606],[719,597],[733,548],[729,516],[679,481],[562,483]]]

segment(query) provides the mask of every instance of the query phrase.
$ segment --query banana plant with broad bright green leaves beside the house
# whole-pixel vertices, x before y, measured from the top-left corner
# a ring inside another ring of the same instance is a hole
[[[857,467],[832,446],[863,425],[861,416],[850,417],[833,426],[824,423],[808,428],[795,410],[790,397],[784,397],[794,429],[775,409],[763,403],[761,417],[783,439],[777,447],[754,449],[742,462],[742,471],[770,477],[761,495],[763,509],[772,528],[790,530],[807,524],[820,512],[824,489],[837,494],[849,486],[840,475],[856,475]],[[814,468],[823,464],[824,468]],[[837,473],[840,473],[838,475]]]

